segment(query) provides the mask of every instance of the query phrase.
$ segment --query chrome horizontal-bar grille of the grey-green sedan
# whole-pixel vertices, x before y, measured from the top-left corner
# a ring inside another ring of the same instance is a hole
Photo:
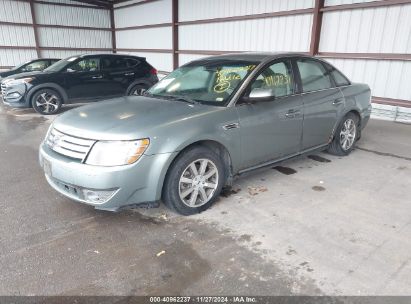
[[[47,137],[46,144],[53,151],[67,157],[84,161],[95,140],[79,138],[52,129]]]

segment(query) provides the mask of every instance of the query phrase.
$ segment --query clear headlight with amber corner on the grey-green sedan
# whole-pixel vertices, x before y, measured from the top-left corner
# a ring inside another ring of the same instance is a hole
[[[135,163],[148,148],[148,138],[135,141],[98,141],[94,144],[86,164],[122,166]]]

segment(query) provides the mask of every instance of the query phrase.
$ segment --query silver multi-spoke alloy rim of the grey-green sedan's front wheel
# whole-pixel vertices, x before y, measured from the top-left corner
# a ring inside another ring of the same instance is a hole
[[[198,159],[189,164],[181,174],[179,195],[191,208],[200,207],[213,197],[218,187],[218,169],[209,159]]]

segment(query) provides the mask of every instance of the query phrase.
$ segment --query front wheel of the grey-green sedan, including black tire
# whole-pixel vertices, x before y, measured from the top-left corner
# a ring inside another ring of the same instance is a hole
[[[164,203],[182,215],[211,207],[224,184],[223,164],[213,151],[195,147],[183,152],[170,167],[164,188]]]

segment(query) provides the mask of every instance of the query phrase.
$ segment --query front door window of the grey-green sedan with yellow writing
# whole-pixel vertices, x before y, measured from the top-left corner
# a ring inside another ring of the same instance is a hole
[[[251,84],[251,90],[254,89],[271,89],[276,97],[293,94],[294,79],[290,63],[276,62],[263,70]]]

